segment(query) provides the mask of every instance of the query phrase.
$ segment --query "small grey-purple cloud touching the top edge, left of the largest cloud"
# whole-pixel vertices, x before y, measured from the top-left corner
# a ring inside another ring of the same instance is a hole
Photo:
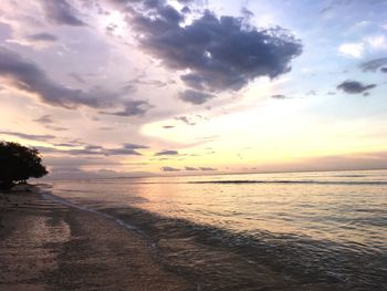
[[[79,12],[65,0],[41,0],[45,17],[60,25],[83,27],[85,22],[79,19]]]

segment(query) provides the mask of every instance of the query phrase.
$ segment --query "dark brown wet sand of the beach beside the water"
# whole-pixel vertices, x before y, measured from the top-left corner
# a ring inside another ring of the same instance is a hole
[[[35,190],[6,196],[0,290],[196,290],[163,269],[140,235],[113,220],[44,200]]]

